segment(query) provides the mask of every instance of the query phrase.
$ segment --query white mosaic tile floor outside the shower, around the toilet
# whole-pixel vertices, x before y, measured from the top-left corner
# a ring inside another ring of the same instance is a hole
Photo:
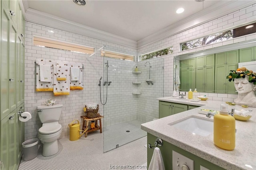
[[[30,161],[21,160],[19,170],[144,170],[146,169],[146,137],[103,153],[103,135],[94,131],[77,141],[69,137],[58,139],[59,152],[42,156],[42,145],[38,156]],[[144,167],[142,167],[144,165]],[[118,168],[119,166],[119,168]],[[131,166],[133,166],[131,168]]]

